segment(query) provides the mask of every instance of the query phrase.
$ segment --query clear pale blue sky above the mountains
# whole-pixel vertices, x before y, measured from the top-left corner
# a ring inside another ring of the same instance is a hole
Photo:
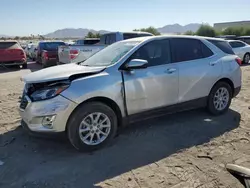
[[[250,20],[250,0],[0,0],[0,34]]]

